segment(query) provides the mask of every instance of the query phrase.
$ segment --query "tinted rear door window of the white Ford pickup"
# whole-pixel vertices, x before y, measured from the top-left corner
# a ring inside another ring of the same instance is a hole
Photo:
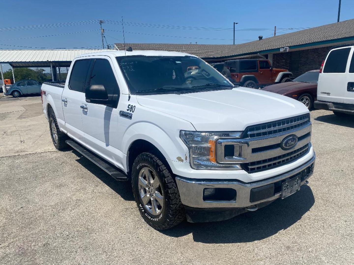
[[[89,72],[90,63],[90,59],[77,60],[75,62],[70,74],[69,89],[78,92],[85,91],[86,76],[87,72]]]

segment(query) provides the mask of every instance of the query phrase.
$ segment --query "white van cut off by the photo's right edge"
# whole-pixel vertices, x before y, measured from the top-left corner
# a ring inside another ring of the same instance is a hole
[[[354,44],[336,46],[322,63],[314,107],[354,115]]]

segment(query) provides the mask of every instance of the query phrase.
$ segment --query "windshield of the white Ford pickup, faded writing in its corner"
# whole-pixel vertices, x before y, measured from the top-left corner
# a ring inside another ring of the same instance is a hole
[[[213,67],[192,56],[116,57],[131,93],[232,88]]]

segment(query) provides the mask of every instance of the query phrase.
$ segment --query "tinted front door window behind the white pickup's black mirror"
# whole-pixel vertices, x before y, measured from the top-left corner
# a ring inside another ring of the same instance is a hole
[[[112,66],[106,59],[96,59],[90,77],[91,85],[103,85],[108,95],[118,94],[119,87]]]

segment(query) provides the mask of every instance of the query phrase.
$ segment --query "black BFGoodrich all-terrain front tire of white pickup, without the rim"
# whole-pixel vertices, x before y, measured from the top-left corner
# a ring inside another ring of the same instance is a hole
[[[146,167],[154,173],[155,177],[158,177],[161,183],[160,187],[163,193],[164,205],[158,215],[150,213],[145,208],[141,199],[138,185],[139,173]],[[145,222],[156,230],[164,230],[178,225],[185,219],[184,207],[173,173],[169,170],[169,167],[166,167],[161,159],[158,158],[157,154],[154,154],[154,152],[139,154],[133,163],[131,172],[134,198]]]

